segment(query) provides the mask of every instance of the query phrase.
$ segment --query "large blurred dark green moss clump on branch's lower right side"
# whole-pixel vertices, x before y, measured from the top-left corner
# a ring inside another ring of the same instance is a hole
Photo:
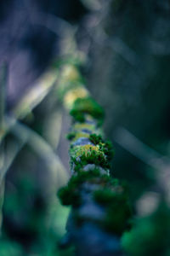
[[[102,225],[106,230],[118,236],[129,229],[132,210],[128,202],[127,189],[117,179],[112,179],[112,187],[99,189],[94,192],[94,201],[106,207]]]

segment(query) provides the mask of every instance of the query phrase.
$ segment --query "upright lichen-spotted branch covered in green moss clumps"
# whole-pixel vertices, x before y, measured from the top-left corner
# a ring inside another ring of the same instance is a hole
[[[130,228],[127,186],[110,176],[112,145],[103,138],[103,108],[90,96],[78,68],[65,65],[59,96],[72,117],[71,179],[58,195],[71,206],[66,230],[77,255],[122,255],[120,238]]]

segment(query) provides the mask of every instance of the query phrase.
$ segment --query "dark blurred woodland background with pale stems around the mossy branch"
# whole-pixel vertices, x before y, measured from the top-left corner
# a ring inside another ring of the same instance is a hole
[[[69,209],[56,191],[70,177],[63,60],[80,65],[105,109],[111,175],[129,184],[135,214],[169,201],[169,14],[169,0],[1,1],[0,255],[73,255],[58,247]]]

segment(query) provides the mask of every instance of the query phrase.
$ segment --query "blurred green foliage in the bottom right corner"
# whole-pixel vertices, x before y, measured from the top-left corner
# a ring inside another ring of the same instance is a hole
[[[130,256],[169,255],[170,209],[161,204],[150,216],[137,219],[133,230],[122,236],[122,247]]]

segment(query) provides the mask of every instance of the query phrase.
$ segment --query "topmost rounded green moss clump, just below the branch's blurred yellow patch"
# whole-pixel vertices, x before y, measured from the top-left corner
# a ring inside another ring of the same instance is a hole
[[[101,108],[99,104],[91,97],[77,98],[70,113],[78,122],[85,121],[85,113],[90,114],[94,117],[94,119],[98,119],[99,125],[102,124],[104,119],[103,108]]]

